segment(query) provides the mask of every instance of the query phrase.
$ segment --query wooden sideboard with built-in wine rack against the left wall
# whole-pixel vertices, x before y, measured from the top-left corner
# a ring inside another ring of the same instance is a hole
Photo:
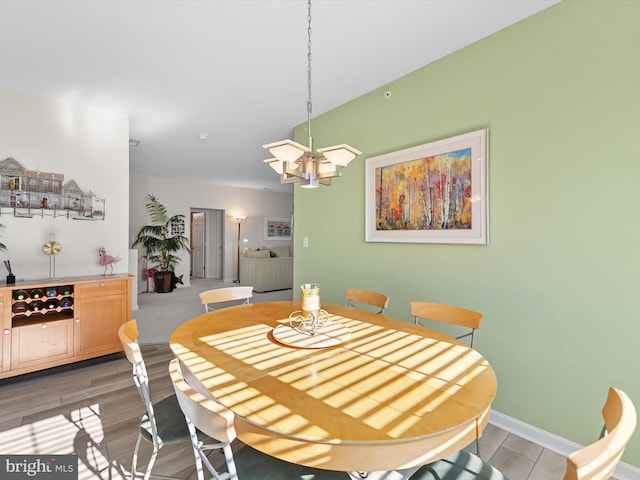
[[[0,295],[0,378],[122,350],[131,319],[131,276],[8,285]]]

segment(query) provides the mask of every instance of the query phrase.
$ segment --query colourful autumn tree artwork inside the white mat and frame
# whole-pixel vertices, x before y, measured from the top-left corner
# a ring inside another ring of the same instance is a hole
[[[376,230],[471,229],[471,148],[375,169]]]

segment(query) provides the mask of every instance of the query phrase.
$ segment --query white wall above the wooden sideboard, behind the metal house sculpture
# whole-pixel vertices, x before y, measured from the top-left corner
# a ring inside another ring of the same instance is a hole
[[[26,169],[61,173],[84,191],[105,199],[106,218],[14,218],[3,212],[1,241],[18,280],[49,277],[42,246],[50,234],[62,246],[56,276],[100,275],[98,249],[121,257],[115,273],[126,273],[129,226],[129,120],[127,116],[0,89],[0,160],[14,158]],[[0,279],[6,272],[2,267]],[[0,282],[2,283],[2,282]]]

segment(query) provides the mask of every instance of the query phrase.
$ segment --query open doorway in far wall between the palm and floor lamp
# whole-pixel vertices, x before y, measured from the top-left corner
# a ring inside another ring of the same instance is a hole
[[[224,275],[224,210],[191,209],[191,276]]]

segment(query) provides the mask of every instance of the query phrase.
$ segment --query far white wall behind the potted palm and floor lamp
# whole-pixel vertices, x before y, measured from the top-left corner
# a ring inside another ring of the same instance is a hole
[[[150,177],[137,172],[130,173],[130,230],[129,245],[143,225],[149,223],[146,196],[151,193],[167,206],[170,216],[182,214],[186,219],[186,234],[189,234],[189,213],[196,209],[219,209],[225,211],[223,279],[231,282],[236,277],[238,224],[235,215],[247,218],[241,225],[241,238],[248,246],[286,245],[290,241],[264,240],[264,219],[291,218],[293,193],[226,187],[207,183],[188,182],[162,177]],[[140,255],[144,252],[139,251]],[[185,286],[189,285],[189,254],[180,254],[182,262],[176,275],[183,275]],[[141,268],[141,267],[140,267]]]

